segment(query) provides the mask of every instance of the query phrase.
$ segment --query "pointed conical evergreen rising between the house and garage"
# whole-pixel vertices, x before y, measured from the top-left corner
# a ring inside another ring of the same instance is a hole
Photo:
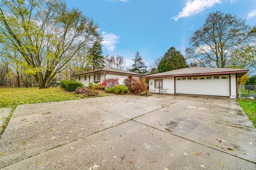
[[[139,74],[147,74],[147,66],[146,63],[143,62],[143,58],[141,57],[140,53],[137,52],[135,54],[135,58],[133,59],[134,64],[132,65],[132,69],[130,72],[139,73]]]

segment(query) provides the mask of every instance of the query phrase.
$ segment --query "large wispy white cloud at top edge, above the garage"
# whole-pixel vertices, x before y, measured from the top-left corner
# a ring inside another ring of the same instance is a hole
[[[221,3],[221,0],[187,0],[186,6],[182,8],[182,11],[173,19],[178,21],[179,18],[195,15],[205,10],[205,8],[211,8],[215,4]]]

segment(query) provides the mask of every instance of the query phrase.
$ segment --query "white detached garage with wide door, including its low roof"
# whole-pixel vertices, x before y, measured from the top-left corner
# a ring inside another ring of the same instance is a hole
[[[210,95],[237,97],[237,78],[246,74],[246,69],[190,67],[147,75],[149,92],[158,92],[159,87],[168,94]]]

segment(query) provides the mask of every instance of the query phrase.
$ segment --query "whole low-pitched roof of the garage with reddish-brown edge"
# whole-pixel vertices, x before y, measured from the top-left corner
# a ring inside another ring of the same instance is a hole
[[[193,75],[217,75],[217,74],[231,74],[240,73],[239,77],[246,74],[247,69],[229,69],[229,68],[215,68],[215,67],[189,67],[184,69],[172,70],[163,73],[147,75],[146,78],[157,77],[179,77],[179,76],[193,76]]]

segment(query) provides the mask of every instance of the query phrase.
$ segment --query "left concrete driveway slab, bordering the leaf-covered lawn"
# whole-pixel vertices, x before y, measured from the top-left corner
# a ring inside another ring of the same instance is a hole
[[[0,165],[110,128],[127,118],[89,106],[82,100],[20,105],[0,140]]]

